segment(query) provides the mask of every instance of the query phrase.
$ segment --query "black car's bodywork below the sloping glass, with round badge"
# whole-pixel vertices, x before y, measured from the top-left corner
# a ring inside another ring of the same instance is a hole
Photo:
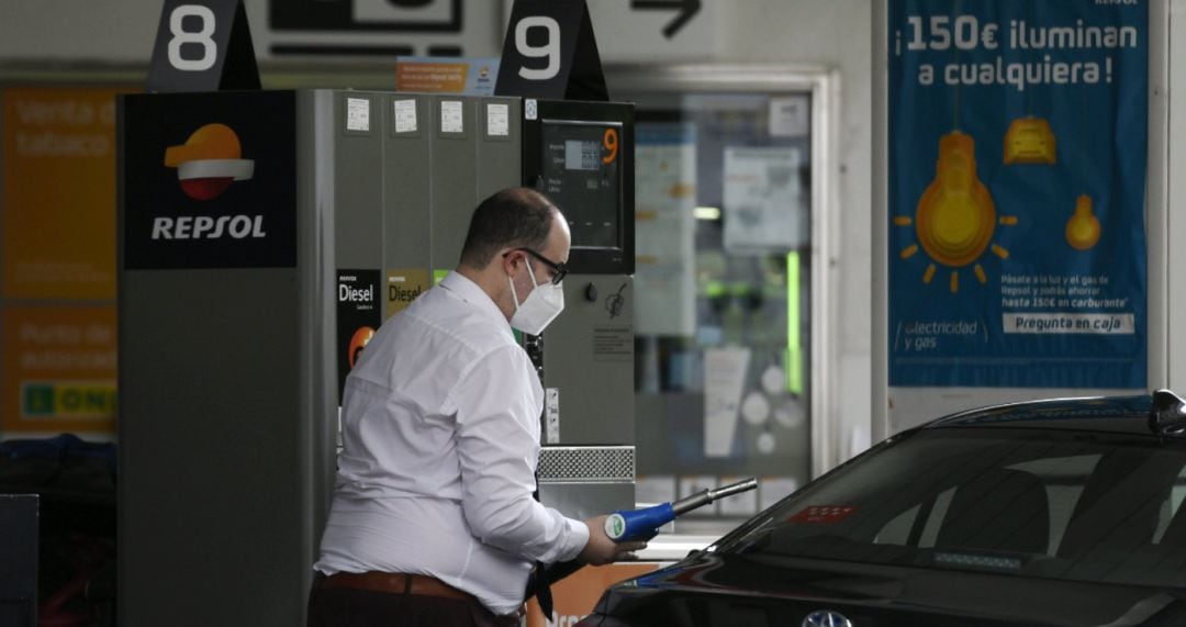
[[[626,625],[798,627],[812,625],[804,621],[814,612],[833,610],[853,627],[1122,627],[1186,623],[1184,599],[1186,591],[1169,588],[700,552],[614,586],[592,619],[600,614]]]

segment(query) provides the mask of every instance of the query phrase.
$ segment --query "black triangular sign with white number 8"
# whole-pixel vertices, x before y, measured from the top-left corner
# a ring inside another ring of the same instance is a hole
[[[147,91],[259,88],[243,0],[165,0]]]

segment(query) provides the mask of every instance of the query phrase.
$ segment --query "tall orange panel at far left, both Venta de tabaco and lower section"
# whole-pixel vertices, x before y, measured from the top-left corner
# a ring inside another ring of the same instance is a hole
[[[0,90],[0,435],[115,433],[114,87]]]

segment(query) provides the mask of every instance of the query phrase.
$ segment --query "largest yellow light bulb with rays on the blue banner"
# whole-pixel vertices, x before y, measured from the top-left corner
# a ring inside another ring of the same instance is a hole
[[[1015,216],[997,219],[996,206],[988,187],[976,177],[976,142],[970,135],[958,130],[939,139],[939,159],[936,162],[935,180],[918,200],[914,218],[898,216],[898,226],[914,225],[918,244],[906,247],[901,258],[918,252],[919,245],[932,261],[951,268],[948,287],[952,294],[959,292],[959,269],[974,264],[973,275],[984,284],[988,274],[983,265],[975,263],[986,250],[1001,258],[1009,251],[993,244],[996,225],[1012,226]],[[931,263],[923,273],[923,282],[935,279],[936,265]]]

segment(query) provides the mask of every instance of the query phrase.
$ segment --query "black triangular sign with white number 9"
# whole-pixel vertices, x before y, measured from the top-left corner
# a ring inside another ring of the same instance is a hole
[[[610,100],[585,0],[515,0],[495,92]]]

